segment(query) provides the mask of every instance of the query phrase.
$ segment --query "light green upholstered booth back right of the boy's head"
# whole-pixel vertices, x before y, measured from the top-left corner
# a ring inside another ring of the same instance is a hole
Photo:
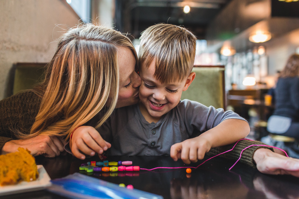
[[[195,79],[181,99],[225,109],[224,66],[193,67]]]

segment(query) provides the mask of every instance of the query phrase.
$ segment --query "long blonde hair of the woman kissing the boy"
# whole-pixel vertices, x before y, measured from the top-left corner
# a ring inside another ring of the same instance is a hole
[[[137,55],[131,40],[104,26],[84,24],[59,38],[45,81],[36,87],[42,96],[28,137],[39,134],[69,138],[70,132],[103,111],[97,127],[111,115],[119,89],[117,47]]]

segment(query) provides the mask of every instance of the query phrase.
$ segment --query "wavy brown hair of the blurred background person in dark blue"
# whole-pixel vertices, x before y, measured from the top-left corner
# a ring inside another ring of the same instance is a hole
[[[292,54],[284,69],[279,73],[279,77],[295,77],[299,76],[299,54]]]

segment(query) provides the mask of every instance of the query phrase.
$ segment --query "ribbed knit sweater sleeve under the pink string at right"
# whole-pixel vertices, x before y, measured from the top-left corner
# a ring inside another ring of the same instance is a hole
[[[218,155],[220,153],[223,153],[227,150],[232,149],[234,145],[235,145],[235,143],[226,145],[226,146],[219,146],[219,147],[211,148],[211,150],[207,153],[207,155]],[[238,160],[240,157],[241,151],[250,145],[266,145],[266,144],[264,144],[263,142],[260,142],[260,141],[240,140],[240,141],[238,141],[237,145],[234,147],[233,150],[231,150],[227,153],[224,153],[220,156],[230,159],[230,160]],[[273,148],[270,146],[251,146],[248,149],[243,151],[240,162],[242,162],[243,164],[246,164],[247,166],[256,168],[256,164],[253,160],[253,154],[259,148],[267,148],[274,152]]]

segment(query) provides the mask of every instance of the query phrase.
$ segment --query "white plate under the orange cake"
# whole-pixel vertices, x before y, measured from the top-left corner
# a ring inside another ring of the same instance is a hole
[[[23,193],[23,192],[31,192],[44,189],[51,185],[51,178],[47,174],[43,165],[37,165],[37,170],[39,173],[39,177],[35,181],[26,182],[22,181],[15,185],[5,185],[0,186],[0,196]]]

